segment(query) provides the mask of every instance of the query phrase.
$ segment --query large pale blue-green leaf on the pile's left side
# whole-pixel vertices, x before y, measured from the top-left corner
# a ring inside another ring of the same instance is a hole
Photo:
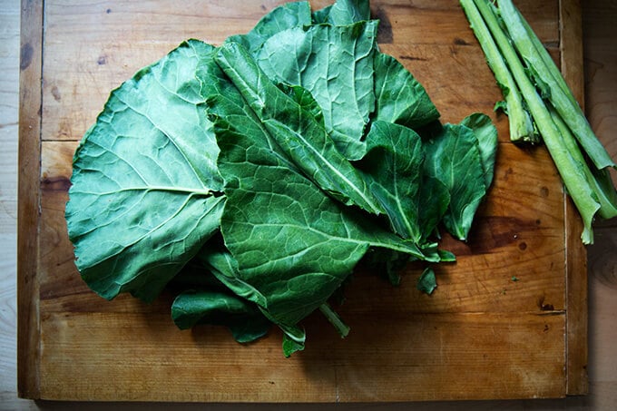
[[[220,223],[218,147],[204,89],[212,47],[181,44],[113,91],[73,159],[75,263],[104,298],[155,298]]]

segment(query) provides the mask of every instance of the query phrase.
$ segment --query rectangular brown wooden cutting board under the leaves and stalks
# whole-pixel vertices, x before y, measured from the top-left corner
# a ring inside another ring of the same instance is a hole
[[[489,113],[495,182],[471,240],[437,269],[432,296],[409,266],[393,288],[357,273],[338,308],[348,338],[309,317],[305,351],[279,332],[250,345],[223,328],[180,331],[170,296],[98,298],[80,279],[64,203],[73,151],[109,92],[186,38],[220,44],[280,0],[22,1],[18,232],[20,396],[60,400],[352,402],[559,397],[587,389],[581,224],[544,147],[509,142],[484,54],[455,0],[373,0],[379,43],[459,122]],[[314,1],[315,8],[328,1]],[[520,9],[581,97],[575,0]],[[580,101],[580,100],[579,100]]]

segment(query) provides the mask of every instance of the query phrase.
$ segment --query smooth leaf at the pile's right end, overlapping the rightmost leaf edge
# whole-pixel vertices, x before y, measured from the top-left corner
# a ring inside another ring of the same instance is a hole
[[[474,132],[464,125],[446,124],[426,142],[426,173],[442,181],[450,204],[444,224],[459,240],[466,240],[486,193],[485,171]]]

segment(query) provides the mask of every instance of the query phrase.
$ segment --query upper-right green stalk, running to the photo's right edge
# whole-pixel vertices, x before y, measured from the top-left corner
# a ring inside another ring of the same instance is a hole
[[[615,167],[611,156],[593,133],[591,125],[587,122],[581,107],[576,103],[572,92],[567,86],[565,87],[567,92],[564,90],[563,78],[562,81],[555,80],[555,77],[562,77],[562,75],[552,60],[543,58],[539,53],[536,45],[540,44],[540,41],[531,40],[532,36],[536,36],[530,28],[528,29],[529,24],[523,23],[520,13],[511,0],[499,0],[498,6],[516,51],[521,54],[528,67],[533,67],[534,75],[548,85],[551,91],[548,100],[573,132],[593,164],[599,170],[605,167]]]

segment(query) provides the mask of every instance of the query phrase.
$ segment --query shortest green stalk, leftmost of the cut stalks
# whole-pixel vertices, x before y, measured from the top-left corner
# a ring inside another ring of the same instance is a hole
[[[510,124],[510,140],[513,142],[539,142],[531,116],[523,107],[523,97],[514,82],[512,73],[499,53],[497,44],[484,24],[473,0],[461,0],[470,26],[485,53],[486,63],[495,74],[495,80],[504,94]]]

